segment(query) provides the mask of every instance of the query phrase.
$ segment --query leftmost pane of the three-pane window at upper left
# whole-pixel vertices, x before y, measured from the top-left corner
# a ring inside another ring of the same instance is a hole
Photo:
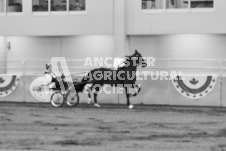
[[[49,2],[48,0],[32,0],[33,12],[48,12]]]

